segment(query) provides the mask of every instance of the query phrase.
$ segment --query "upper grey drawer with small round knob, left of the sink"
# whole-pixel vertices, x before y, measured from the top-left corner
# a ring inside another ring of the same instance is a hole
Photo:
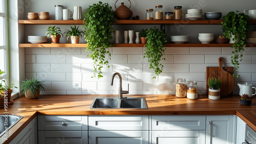
[[[88,116],[38,115],[38,130],[88,130]]]

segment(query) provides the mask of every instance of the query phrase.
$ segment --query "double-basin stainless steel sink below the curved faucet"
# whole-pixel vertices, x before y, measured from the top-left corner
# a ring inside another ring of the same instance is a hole
[[[146,100],[137,98],[94,98],[90,109],[147,109]]]

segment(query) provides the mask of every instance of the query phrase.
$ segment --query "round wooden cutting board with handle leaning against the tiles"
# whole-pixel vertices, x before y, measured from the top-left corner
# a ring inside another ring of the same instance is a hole
[[[222,80],[222,83],[220,86],[221,96],[227,96],[233,92],[234,87],[236,86],[236,81],[234,81],[234,78],[230,73],[228,73],[223,69],[222,65],[223,65],[223,58],[220,57],[219,68],[209,76],[208,81],[211,77],[214,77],[217,79],[220,78]]]

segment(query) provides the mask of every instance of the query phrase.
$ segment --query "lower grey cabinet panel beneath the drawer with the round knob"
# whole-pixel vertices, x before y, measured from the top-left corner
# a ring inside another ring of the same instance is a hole
[[[88,144],[88,131],[38,131],[39,144]]]

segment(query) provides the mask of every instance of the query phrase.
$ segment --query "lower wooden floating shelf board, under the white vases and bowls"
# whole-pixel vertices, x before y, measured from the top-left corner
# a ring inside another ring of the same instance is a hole
[[[231,47],[230,43],[166,43],[166,47]],[[87,47],[87,43],[19,43],[19,47]],[[115,43],[113,47],[144,47],[142,43]],[[256,43],[248,43],[246,47],[256,47]]]

